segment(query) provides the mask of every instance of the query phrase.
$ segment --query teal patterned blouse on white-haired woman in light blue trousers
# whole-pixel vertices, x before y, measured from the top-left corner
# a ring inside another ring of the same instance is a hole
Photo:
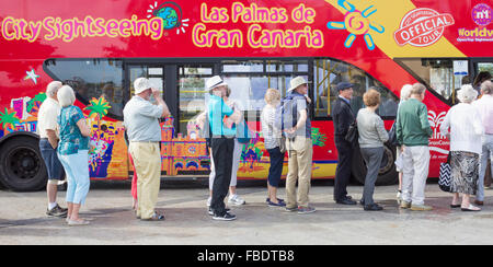
[[[58,153],[77,154],[79,150],[89,150],[89,137],[82,136],[77,123],[84,118],[84,114],[78,106],[62,107],[58,115],[60,126],[60,143]]]

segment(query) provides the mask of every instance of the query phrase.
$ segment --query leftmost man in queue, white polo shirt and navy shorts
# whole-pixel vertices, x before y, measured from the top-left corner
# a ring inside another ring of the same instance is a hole
[[[41,105],[37,114],[37,130],[39,134],[39,151],[48,172],[48,184],[46,186],[48,210],[46,214],[64,218],[67,217],[67,209],[60,208],[57,204],[57,186],[58,181],[64,179],[64,166],[56,151],[59,139],[57,116],[60,113],[57,93],[61,85],[61,82],[53,81],[46,88],[47,97]]]

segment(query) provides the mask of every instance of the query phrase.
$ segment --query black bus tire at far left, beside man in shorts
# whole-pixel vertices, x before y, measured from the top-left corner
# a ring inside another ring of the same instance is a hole
[[[47,172],[38,139],[20,136],[1,144],[0,181],[15,191],[41,190],[46,186]]]

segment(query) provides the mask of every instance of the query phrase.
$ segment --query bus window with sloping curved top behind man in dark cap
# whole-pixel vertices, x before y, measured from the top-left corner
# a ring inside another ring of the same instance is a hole
[[[351,100],[351,107],[354,114],[357,114],[360,108],[365,107],[363,94],[370,88],[374,88],[381,94],[379,115],[382,117],[395,116],[399,100],[381,82],[346,62],[333,59],[316,59],[313,62],[316,117],[325,118],[331,116],[334,101],[339,97],[339,92],[335,88],[342,81],[354,84],[353,98]]]

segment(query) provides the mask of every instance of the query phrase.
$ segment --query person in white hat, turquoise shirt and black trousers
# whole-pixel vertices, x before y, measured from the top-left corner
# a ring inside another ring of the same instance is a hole
[[[237,134],[236,126],[232,123],[238,123],[240,114],[229,107],[222,100],[227,94],[228,84],[219,76],[207,80],[206,89],[210,93],[207,116],[216,171],[209,211],[213,213],[214,220],[231,221],[237,217],[226,209],[225,197],[228,195],[231,182],[234,136]],[[226,119],[223,119],[225,117]]]

